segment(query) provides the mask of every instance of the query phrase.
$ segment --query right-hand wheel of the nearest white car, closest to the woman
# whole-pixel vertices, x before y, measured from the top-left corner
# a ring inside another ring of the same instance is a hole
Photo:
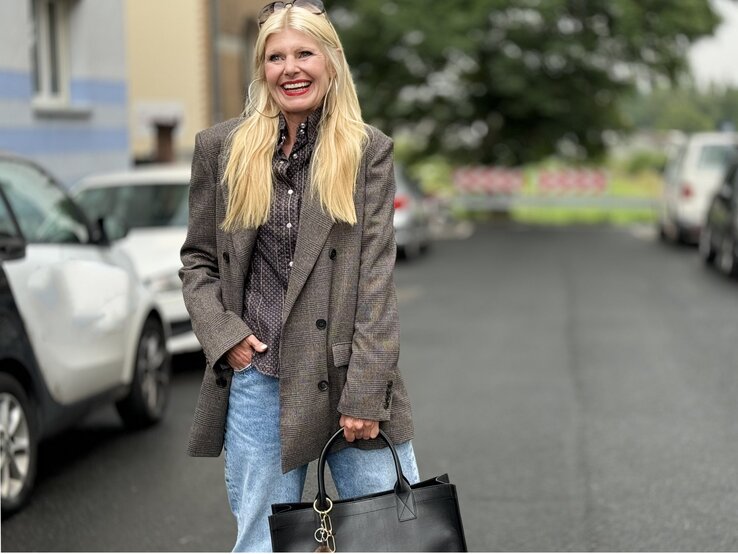
[[[162,418],[169,398],[170,372],[164,328],[158,319],[150,317],[138,341],[131,389],[128,396],[116,403],[127,427],[141,429]]]

